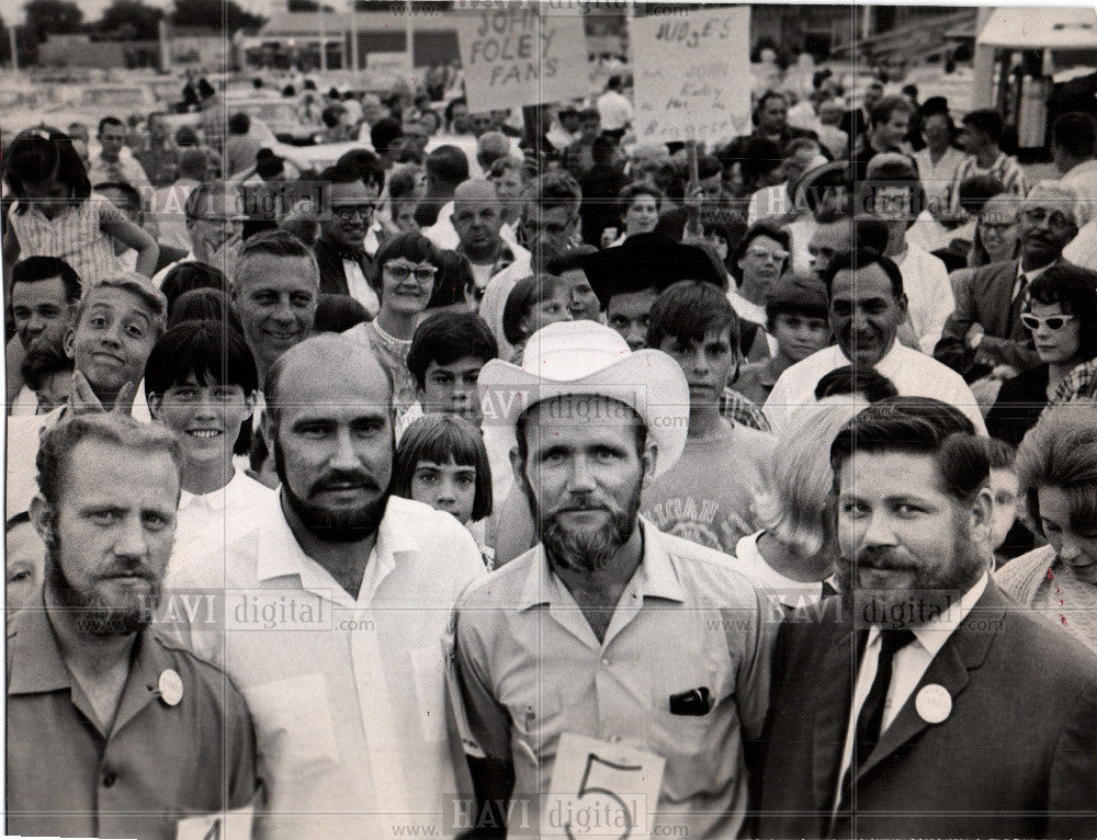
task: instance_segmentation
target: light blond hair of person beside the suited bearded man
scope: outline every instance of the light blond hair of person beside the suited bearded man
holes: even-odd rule
[[[830,444],[868,405],[849,397],[841,404],[805,406],[778,440],[769,487],[756,497],[755,512],[759,524],[804,557],[823,548],[826,522],[834,515]]]

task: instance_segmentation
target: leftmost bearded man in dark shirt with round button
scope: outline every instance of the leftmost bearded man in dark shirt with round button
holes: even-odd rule
[[[247,819],[244,697],[149,626],[176,529],[174,436],[78,417],[45,433],[37,468],[45,581],[8,633],[8,832],[167,840],[226,809]]]

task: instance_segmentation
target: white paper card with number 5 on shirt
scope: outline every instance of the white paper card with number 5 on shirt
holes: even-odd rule
[[[658,804],[663,767],[654,752],[564,733],[541,801],[541,837],[648,837],[648,809]]]

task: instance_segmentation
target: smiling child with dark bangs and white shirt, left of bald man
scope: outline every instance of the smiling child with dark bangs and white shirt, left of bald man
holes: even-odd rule
[[[223,563],[273,492],[236,469],[233,449],[256,408],[259,374],[244,337],[217,321],[169,329],[149,354],[145,394],[183,449],[182,493],[168,581],[195,563]],[[250,428],[250,427],[249,427]]]

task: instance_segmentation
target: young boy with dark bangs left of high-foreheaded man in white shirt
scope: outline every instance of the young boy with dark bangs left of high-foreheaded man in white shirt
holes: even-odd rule
[[[777,353],[743,367],[735,389],[762,405],[777,377],[830,341],[826,290],[808,279],[784,274],[766,293],[766,331],[777,340]]]

